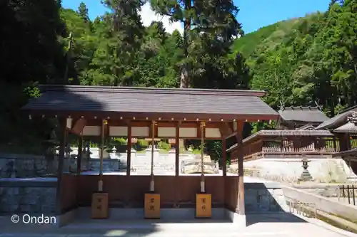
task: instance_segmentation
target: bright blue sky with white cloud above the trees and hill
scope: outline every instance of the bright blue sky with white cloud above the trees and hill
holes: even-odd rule
[[[100,16],[106,11],[100,0],[62,0],[62,6],[76,10],[81,1],[84,1],[88,7],[91,19],[95,19],[96,16]],[[326,11],[330,0],[234,0],[234,2],[240,9],[237,16],[238,21],[242,23],[243,30],[250,33],[277,21],[305,16],[316,11]],[[151,23],[151,20],[156,20],[150,12],[149,6],[143,10],[141,17],[143,21],[147,21],[144,22],[144,25]],[[162,20],[164,22],[167,19]],[[167,24],[169,24],[168,21]],[[166,26],[166,30],[169,27],[180,26],[177,24],[176,26]]]

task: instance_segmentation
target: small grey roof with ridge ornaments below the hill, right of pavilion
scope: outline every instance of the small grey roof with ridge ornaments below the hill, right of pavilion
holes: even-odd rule
[[[278,112],[286,121],[324,122],[329,119],[318,107],[281,107]]]

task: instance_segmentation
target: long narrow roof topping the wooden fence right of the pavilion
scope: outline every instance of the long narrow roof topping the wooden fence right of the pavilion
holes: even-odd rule
[[[332,137],[333,134],[327,130],[260,130],[253,135],[243,139],[244,143],[253,142],[260,137]],[[238,147],[238,144],[227,149],[227,152],[231,152]]]

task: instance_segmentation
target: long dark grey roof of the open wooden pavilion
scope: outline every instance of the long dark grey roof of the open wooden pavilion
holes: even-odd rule
[[[276,120],[278,113],[258,90],[132,88],[42,85],[41,95],[23,107],[30,114],[105,115],[196,120]]]

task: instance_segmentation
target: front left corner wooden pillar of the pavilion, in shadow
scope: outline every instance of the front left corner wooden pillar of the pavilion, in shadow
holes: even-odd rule
[[[62,174],[64,171],[64,155],[66,148],[67,130],[66,130],[66,118],[60,119],[61,141],[59,142],[59,160],[57,167],[57,185],[56,185],[56,214],[61,215],[61,189],[62,186]]]

